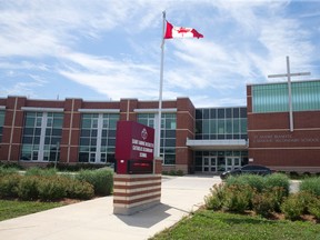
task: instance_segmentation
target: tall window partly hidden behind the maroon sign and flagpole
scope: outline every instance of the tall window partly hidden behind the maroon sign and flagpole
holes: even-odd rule
[[[154,128],[154,113],[138,114],[138,122]],[[163,164],[176,164],[176,113],[161,114],[161,139],[160,156],[163,158]]]

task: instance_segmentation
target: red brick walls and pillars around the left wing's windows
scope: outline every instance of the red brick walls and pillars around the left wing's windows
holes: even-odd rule
[[[0,106],[6,111],[0,142],[0,161],[19,162],[21,152],[22,131],[24,124],[23,108],[38,109],[62,109],[63,127],[60,142],[60,162],[74,164],[78,162],[79,137],[81,130],[81,110],[108,109],[117,110],[120,120],[137,121],[137,109],[158,109],[158,101],[139,101],[138,99],[121,99],[112,102],[83,101],[82,99],[66,100],[32,100],[26,97],[8,97],[0,99]],[[188,172],[192,162],[192,152],[186,147],[187,138],[193,138],[194,129],[194,107],[189,98],[178,98],[172,101],[163,101],[163,112],[166,109],[176,109],[177,112],[177,150],[176,168]],[[49,110],[48,110],[49,111]],[[29,164],[29,162],[23,162]],[[39,162],[41,163],[41,162]],[[46,163],[46,162],[44,162]],[[30,162],[30,164],[34,164]],[[172,168],[172,167],[170,167]],[[164,166],[166,169],[166,166]],[[168,168],[169,169],[169,168]]]

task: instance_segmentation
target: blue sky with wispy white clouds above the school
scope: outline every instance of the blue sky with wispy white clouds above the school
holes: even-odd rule
[[[0,0],[0,98],[159,99],[162,11],[203,39],[164,47],[163,100],[246,106],[246,86],[320,79],[320,2]]]

